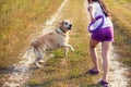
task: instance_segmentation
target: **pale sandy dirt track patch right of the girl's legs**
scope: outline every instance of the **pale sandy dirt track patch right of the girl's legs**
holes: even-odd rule
[[[128,67],[123,67],[118,61],[119,55],[115,53],[115,47],[111,47],[110,58],[110,87],[127,87],[129,78],[124,74]]]

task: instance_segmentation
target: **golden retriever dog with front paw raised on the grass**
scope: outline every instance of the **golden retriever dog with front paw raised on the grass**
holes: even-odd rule
[[[39,36],[31,42],[31,48],[34,49],[34,53],[36,57],[35,64],[37,67],[41,67],[39,62],[45,62],[43,59],[45,58],[47,51],[52,51],[58,48],[64,48],[64,55],[68,54],[69,48],[74,51],[73,47],[68,44],[69,32],[71,29],[71,21],[64,20],[60,23],[60,26],[57,29],[46,35]]]

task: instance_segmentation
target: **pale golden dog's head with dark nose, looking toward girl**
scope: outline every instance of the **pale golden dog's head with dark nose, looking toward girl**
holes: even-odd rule
[[[60,27],[64,30],[71,30],[72,28],[72,22],[70,20],[64,20],[60,23]]]

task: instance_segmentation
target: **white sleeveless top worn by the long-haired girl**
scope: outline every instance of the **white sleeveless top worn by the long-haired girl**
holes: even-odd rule
[[[103,25],[102,28],[112,27],[112,22],[110,21],[110,18],[108,16],[107,17],[105,16],[105,14],[103,12],[103,9],[100,8],[100,4],[98,2],[94,2],[94,3],[90,4],[90,5],[92,5],[95,9],[95,11],[94,11],[94,16],[95,17],[98,16],[98,15],[103,15],[104,16],[104,25]],[[98,22],[97,22],[97,24],[95,26],[97,26],[97,25],[99,25]]]

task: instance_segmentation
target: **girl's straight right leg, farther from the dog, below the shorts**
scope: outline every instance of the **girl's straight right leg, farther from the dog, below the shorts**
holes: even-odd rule
[[[110,46],[111,46],[111,41],[102,42],[102,57],[103,57],[103,71],[104,71],[103,80],[104,82],[108,82]]]

